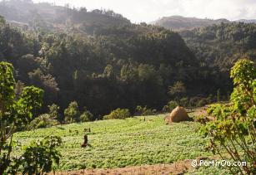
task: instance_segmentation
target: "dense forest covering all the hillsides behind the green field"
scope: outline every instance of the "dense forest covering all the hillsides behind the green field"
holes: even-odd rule
[[[24,15],[18,23],[18,16],[8,11],[15,3],[34,7],[38,16],[16,7]],[[147,105],[160,110],[169,100],[216,100],[219,92],[225,99],[232,88],[226,70],[243,54],[255,59],[253,24],[220,24],[179,34],[133,24],[113,11],[18,0],[1,2],[0,8],[8,19],[0,20],[0,61],[13,63],[17,94],[24,85],[44,90],[39,113],[57,104],[63,114],[77,101],[81,111],[88,109],[93,119],[101,119],[118,108],[133,113],[138,105]],[[54,20],[48,20],[50,15]]]

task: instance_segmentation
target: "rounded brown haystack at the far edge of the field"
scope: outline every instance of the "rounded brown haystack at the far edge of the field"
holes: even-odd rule
[[[165,117],[166,124],[178,123],[178,122],[189,121],[189,120],[190,120],[190,118],[188,117],[188,113],[186,112],[186,110],[183,107],[180,107],[180,106],[173,109],[171,114],[168,114]]]

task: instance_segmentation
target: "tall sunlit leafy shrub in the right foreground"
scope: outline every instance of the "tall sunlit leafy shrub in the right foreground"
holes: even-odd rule
[[[253,61],[239,60],[231,70],[231,78],[235,87],[230,102],[208,109],[215,120],[204,124],[201,132],[210,139],[208,148],[213,153],[221,158],[228,153],[233,161],[247,162],[244,167],[228,167],[231,173],[255,174],[256,68]]]

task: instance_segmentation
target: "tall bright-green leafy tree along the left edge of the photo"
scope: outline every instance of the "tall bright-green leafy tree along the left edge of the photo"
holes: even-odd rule
[[[33,114],[43,103],[43,90],[25,87],[20,97],[16,97],[15,84],[13,66],[0,62],[0,174],[7,173],[7,169],[15,162],[11,154],[13,134],[28,126]]]

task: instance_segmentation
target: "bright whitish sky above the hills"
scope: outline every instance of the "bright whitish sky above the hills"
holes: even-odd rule
[[[33,0],[33,2],[69,3],[71,7],[112,9],[132,22],[153,22],[160,17],[256,19],[256,0]]]

